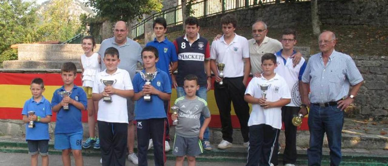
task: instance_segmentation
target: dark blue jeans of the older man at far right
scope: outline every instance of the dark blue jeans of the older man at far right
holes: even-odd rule
[[[341,163],[341,132],[344,117],[343,111],[338,109],[337,106],[320,107],[319,105],[310,105],[308,114],[310,147],[307,149],[309,166],[320,166],[325,132],[330,149],[330,165],[339,166]]]

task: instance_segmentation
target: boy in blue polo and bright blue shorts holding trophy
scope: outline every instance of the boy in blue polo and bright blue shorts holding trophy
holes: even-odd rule
[[[51,100],[52,111],[57,112],[55,124],[54,148],[62,150],[64,166],[70,166],[70,152],[73,153],[76,166],[83,165],[81,145],[83,128],[81,123],[81,110],[87,108],[87,97],[82,88],[74,85],[77,77],[77,68],[73,62],[66,62],[61,69],[64,85],[55,90]],[[71,92],[69,96],[62,97],[59,93]],[[68,109],[64,109],[68,106]]]

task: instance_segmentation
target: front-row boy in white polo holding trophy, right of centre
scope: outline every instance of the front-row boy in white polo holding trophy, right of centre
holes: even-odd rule
[[[271,53],[262,56],[262,77],[254,77],[249,82],[244,100],[252,104],[248,121],[249,148],[246,166],[272,166],[278,131],[282,127],[281,107],[291,102],[286,80],[274,73],[276,56]],[[260,86],[267,85],[265,99]]]

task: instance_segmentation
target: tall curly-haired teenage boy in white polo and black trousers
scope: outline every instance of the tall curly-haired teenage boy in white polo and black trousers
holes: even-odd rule
[[[214,96],[222,124],[222,141],[219,149],[232,147],[232,120],[230,118],[230,102],[239,118],[244,145],[248,147],[249,106],[244,101],[245,86],[251,70],[249,61],[248,40],[234,33],[237,26],[236,16],[227,14],[221,18],[223,35],[220,40],[213,41],[210,49],[210,66],[215,75]],[[216,63],[225,64],[223,80],[218,76]],[[223,81],[223,85],[219,82]]]

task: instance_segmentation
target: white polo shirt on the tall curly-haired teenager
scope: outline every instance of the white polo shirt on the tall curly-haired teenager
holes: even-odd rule
[[[234,34],[234,39],[228,45],[223,35],[220,40],[211,43],[210,59],[217,59],[218,63],[225,64],[224,77],[234,78],[244,76],[244,60],[249,58],[248,40]]]

